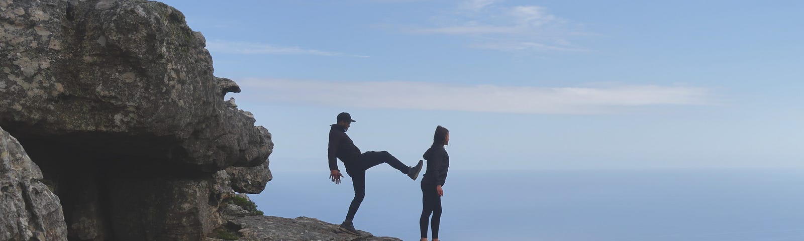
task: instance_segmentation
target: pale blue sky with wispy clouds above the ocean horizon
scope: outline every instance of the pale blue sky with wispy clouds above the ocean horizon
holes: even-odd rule
[[[342,111],[408,164],[445,126],[453,170],[804,167],[804,2],[163,2],[274,172],[326,172]]]

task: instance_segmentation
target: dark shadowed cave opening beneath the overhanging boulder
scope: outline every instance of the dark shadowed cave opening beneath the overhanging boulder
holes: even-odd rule
[[[187,153],[168,137],[8,129],[59,197],[70,241],[163,237],[153,231],[163,229],[158,226],[169,214],[148,206],[166,206],[161,195],[182,195],[170,186],[176,178],[211,178],[198,166],[172,161]],[[220,195],[209,194],[209,204],[216,206]]]

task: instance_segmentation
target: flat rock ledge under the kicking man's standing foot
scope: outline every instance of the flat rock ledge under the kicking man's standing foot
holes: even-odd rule
[[[298,217],[287,219],[275,216],[249,216],[234,219],[230,227],[237,231],[240,240],[260,241],[402,241],[392,237],[375,237],[369,232],[358,231],[360,235],[350,235],[338,231],[338,225],[318,219]]]

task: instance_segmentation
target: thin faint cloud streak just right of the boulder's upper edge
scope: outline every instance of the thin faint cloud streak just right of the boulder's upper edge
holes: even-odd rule
[[[207,49],[212,52],[240,55],[322,55],[367,58],[333,51],[319,51],[302,47],[282,47],[265,43],[246,43],[222,40],[207,41]]]

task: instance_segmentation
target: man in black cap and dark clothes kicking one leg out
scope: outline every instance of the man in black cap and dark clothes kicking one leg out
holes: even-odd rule
[[[341,223],[340,230],[352,235],[359,235],[352,224],[352,219],[355,219],[355,213],[360,207],[360,202],[363,202],[363,197],[366,196],[366,170],[380,163],[388,163],[388,165],[393,166],[396,170],[400,170],[400,172],[407,174],[409,178],[416,181],[423,161],[419,160],[419,164],[416,166],[407,166],[387,151],[360,153],[360,149],[355,146],[355,143],[351,141],[351,138],[346,133],[349,125],[355,120],[352,120],[351,115],[347,112],[338,114],[337,120],[337,124],[331,125],[330,145],[329,149],[327,149],[327,157],[329,157],[330,162],[330,180],[335,184],[341,183],[343,174],[338,170],[338,162],[335,161],[335,157],[338,157],[343,161],[343,165],[346,166],[347,174],[352,178],[352,185],[355,187],[355,198],[352,199],[351,205],[349,205],[347,219]]]

